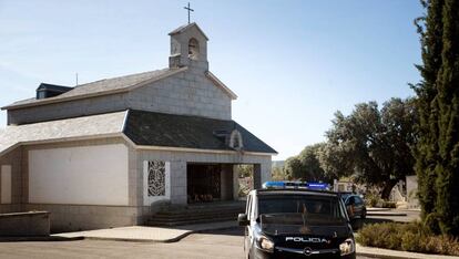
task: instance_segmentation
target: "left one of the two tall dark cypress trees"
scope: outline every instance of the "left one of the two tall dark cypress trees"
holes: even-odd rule
[[[422,219],[438,231],[435,206],[437,193],[436,163],[438,160],[438,103],[437,74],[441,65],[442,6],[443,0],[421,1],[427,9],[425,17],[416,20],[420,33],[422,65],[417,65],[422,80],[411,85],[417,94],[416,106],[419,114],[418,144],[415,152],[415,170],[418,176],[418,197],[422,208]]]

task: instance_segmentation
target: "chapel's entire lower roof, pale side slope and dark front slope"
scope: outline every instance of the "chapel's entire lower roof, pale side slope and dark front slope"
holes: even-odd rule
[[[223,136],[237,130],[243,151],[276,151],[234,121],[143,111],[122,111],[51,122],[7,126],[0,130],[0,155],[21,144],[122,136],[135,145],[211,151],[234,151]]]

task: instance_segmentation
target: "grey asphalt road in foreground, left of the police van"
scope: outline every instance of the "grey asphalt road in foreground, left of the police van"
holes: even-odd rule
[[[243,230],[191,235],[178,242],[102,240],[0,242],[0,258],[244,258]],[[366,259],[366,257],[358,257]]]

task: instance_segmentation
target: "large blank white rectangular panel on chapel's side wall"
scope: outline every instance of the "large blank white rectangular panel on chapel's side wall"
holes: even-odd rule
[[[29,203],[129,205],[123,144],[29,152]]]

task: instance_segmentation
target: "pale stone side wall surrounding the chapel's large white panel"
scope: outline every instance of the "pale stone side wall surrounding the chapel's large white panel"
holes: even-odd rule
[[[59,149],[71,147],[98,147],[106,145],[126,145],[128,148],[128,201],[126,206],[103,205],[68,205],[68,204],[32,204],[29,201],[29,153],[33,151]],[[94,156],[95,157],[95,156]],[[137,221],[139,214],[149,213],[150,208],[137,207],[137,172],[136,152],[122,138],[101,138],[84,142],[67,142],[41,144],[16,148],[0,157],[0,164],[12,164],[12,201],[11,205],[0,205],[0,213],[44,210],[51,213],[51,230],[53,232],[132,226]],[[142,189],[142,188],[141,188]],[[141,211],[141,213],[139,213]]]

